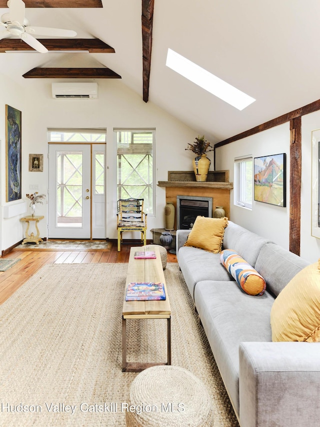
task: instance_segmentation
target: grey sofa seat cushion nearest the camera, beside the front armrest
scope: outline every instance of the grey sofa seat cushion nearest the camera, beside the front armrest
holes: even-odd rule
[[[194,302],[232,405],[239,413],[239,344],[271,341],[270,311],[274,298],[242,292],[236,282],[196,284]]]

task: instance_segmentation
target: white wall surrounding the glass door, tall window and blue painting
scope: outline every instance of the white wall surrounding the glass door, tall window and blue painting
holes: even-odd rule
[[[4,104],[22,111],[22,199],[26,193],[34,192],[33,185],[39,185],[39,193],[47,194],[48,187],[48,127],[90,128],[105,127],[107,130],[107,237],[116,238],[116,144],[113,128],[155,128],[155,182],[167,180],[168,170],[192,170],[192,156],[184,151],[197,133],[157,108],[150,101],[128,89],[120,80],[98,80],[97,100],[55,100],[51,96],[51,81],[47,79],[28,81],[25,88],[12,87],[3,82],[3,123]],[[142,87],[141,87],[142,91]],[[12,94],[15,94],[14,96]],[[24,102],[25,101],[25,102]],[[4,142],[5,135],[0,139]],[[2,144],[3,145],[3,144]],[[3,147],[1,153],[3,154]],[[43,172],[28,172],[29,154],[43,154]],[[3,158],[4,156],[2,156]],[[1,178],[4,178],[2,167]],[[1,186],[3,201],[3,185]],[[155,216],[148,215],[148,230],[164,226],[165,190],[155,186]],[[12,203],[12,202],[11,202]],[[29,207],[28,207],[29,209]],[[30,214],[29,210],[27,212]],[[47,237],[47,198],[42,205],[36,205],[36,213],[44,215],[39,223],[41,237]],[[23,238],[20,216],[9,221],[3,220],[1,249],[6,249]],[[151,238],[149,232],[147,238]]]

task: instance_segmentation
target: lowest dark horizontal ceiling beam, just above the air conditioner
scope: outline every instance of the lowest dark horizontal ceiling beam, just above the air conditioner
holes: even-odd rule
[[[33,68],[25,79],[121,79],[109,68]]]

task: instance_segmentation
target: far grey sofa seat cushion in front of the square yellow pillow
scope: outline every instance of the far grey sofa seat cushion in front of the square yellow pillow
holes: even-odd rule
[[[194,286],[201,280],[234,281],[220,263],[220,254],[182,246],[178,252],[179,267],[194,300]]]

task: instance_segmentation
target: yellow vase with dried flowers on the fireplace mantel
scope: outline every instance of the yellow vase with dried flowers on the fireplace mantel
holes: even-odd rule
[[[192,161],[195,181],[206,181],[211,164],[211,160],[206,157],[206,153],[213,151],[210,143],[204,139],[204,135],[198,136],[192,144],[188,143],[188,147],[185,150],[196,154]]]

